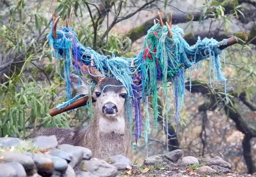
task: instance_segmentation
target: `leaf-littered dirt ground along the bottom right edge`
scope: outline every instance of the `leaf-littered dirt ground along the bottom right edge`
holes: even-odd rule
[[[178,168],[165,169],[154,168],[151,166],[133,166],[130,170],[119,171],[118,177],[256,177],[256,172],[253,174],[239,174],[236,171],[231,173],[212,173],[203,174],[197,169]]]

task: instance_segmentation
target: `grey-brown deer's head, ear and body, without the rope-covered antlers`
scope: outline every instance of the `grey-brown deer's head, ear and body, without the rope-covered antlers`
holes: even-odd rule
[[[88,94],[88,85],[79,76],[71,75],[71,86],[80,94]],[[114,85],[114,86],[113,86]],[[128,157],[130,152],[129,124],[126,120],[126,89],[116,78],[105,77],[92,93],[94,117],[91,126],[78,130],[66,128],[39,129],[31,134],[36,136],[55,135],[59,144],[86,147],[92,156],[105,159],[114,155]]]

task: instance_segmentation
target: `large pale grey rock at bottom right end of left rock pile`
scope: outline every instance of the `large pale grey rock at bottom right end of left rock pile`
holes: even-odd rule
[[[82,161],[81,170],[89,171],[93,175],[99,177],[116,177],[117,169],[104,160],[91,159],[90,161]]]

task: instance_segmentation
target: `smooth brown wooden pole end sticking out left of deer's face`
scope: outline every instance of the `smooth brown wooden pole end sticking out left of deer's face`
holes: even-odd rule
[[[51,116],[55,116],[55,115],[58,115],[60,113],[64,113],[68,110],[73,110],[73,109],[79,108],[81,106],[85,106],[88,99],[89,99],[88,95],[83,96],[83,97],[77,99],[76,101],[74,101],[73,103],[71,103],[70,105],[68,105],[65,108],[62,108],[60,110],[58,110],[57,108],[52,108],[52,109],[49,110],[49,113],[50,113]]]

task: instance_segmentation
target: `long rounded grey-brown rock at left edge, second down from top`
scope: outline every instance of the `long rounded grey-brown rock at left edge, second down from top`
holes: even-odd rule
[[[4,156],[4,158],[2,159],[3,162],[18,162],[24,167],[26,171],[34,169],[35,164],[33,159],[24,154],[16,152],[7,152],[2,154],[1,156]]]

